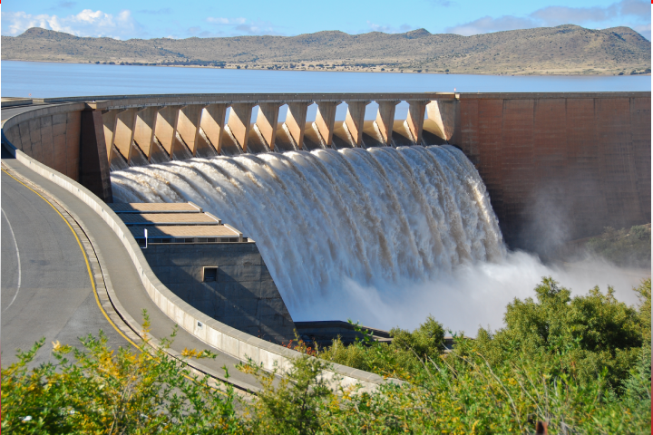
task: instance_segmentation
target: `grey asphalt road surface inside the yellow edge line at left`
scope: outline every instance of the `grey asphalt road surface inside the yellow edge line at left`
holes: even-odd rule
[[[100,330],[112,347],[129,346],[101,314],[82,250],[54,208],[3,171],[0,210],[2,364],[42,337],[36,363],[48,360],[51,342],[74,345]]]

